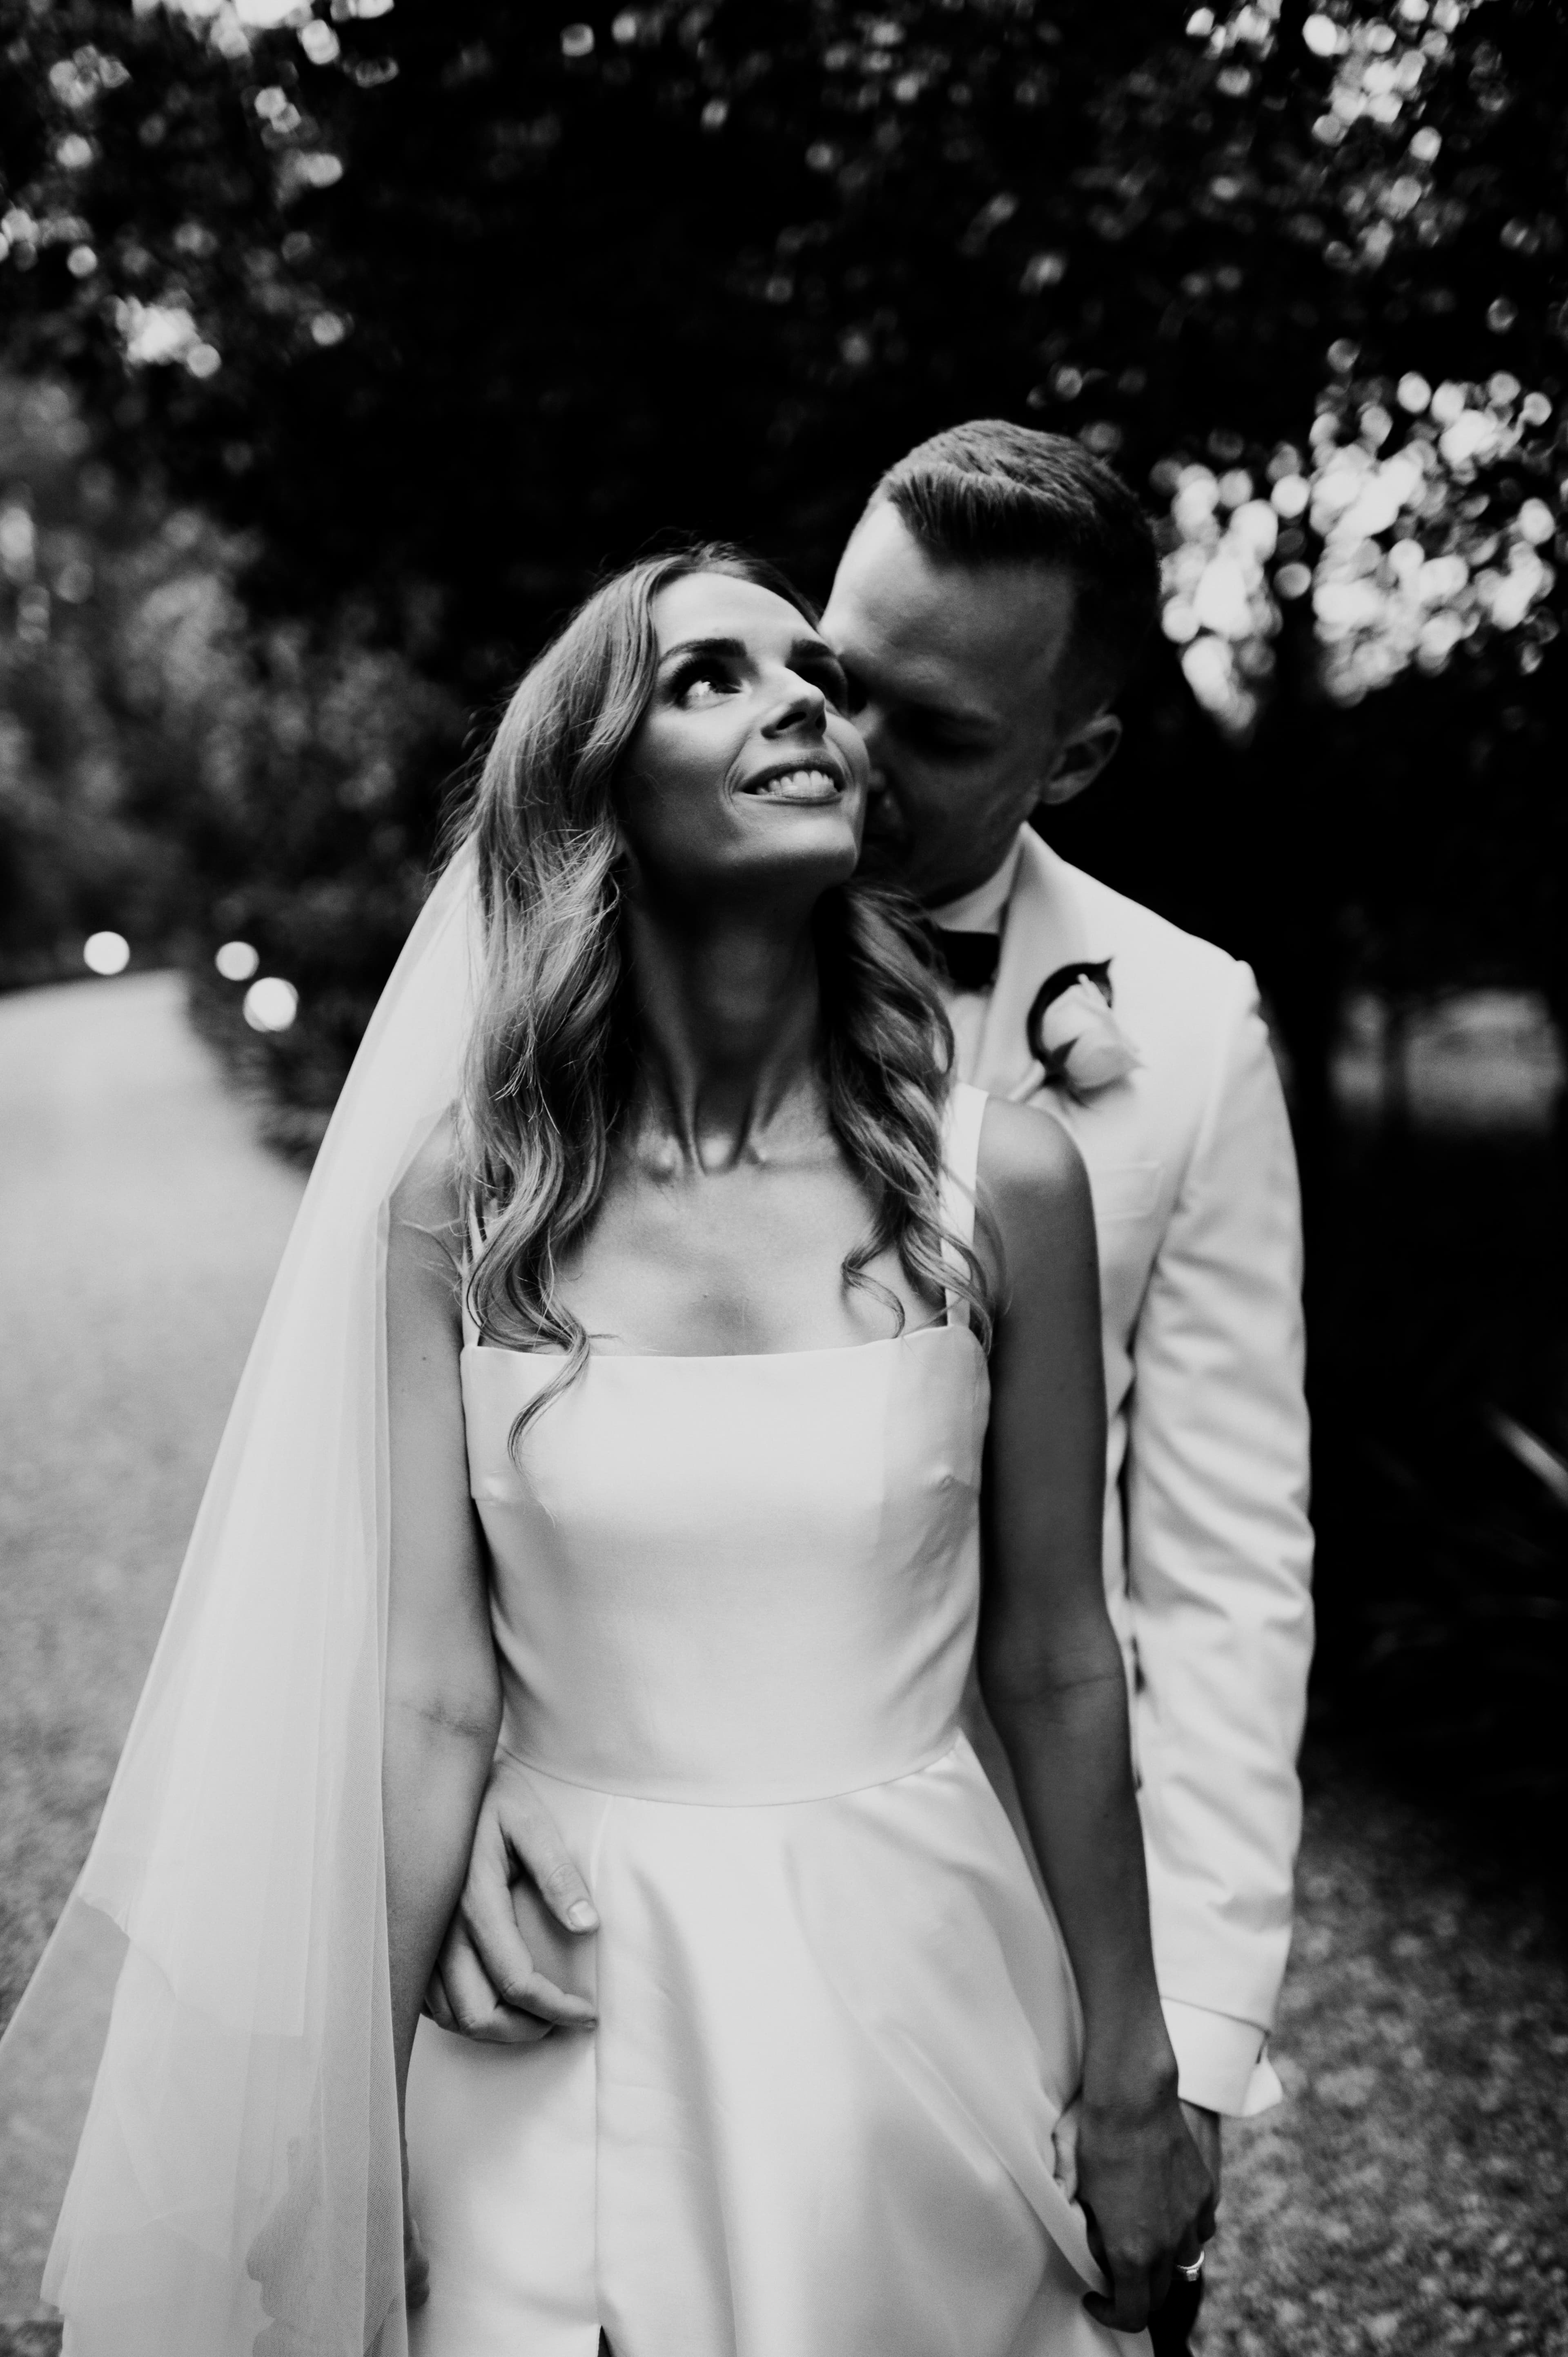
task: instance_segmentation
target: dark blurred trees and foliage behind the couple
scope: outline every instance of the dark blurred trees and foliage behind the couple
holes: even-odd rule
[[[443,794],[601,566],[722,533],[821,594],[922,434],[1082,434],[1167,636],[1049,832],[1276,1021],[1316,1742],[1554,1850],[1561,1091],[1434,1122],[1405,1042],[1483,988],[1568,1028],[1566,165],[1561,0],[0,0],[0,981],[97,926],[186,964],[309,1153]]]

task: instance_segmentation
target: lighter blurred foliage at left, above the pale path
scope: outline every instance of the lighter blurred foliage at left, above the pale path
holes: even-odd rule
[[[186,955],[311,1148],[420,903],[462,709],[354,606],[257,627],[245,544],[87,445],[64,387],[0,379],[0,985],[80,973],[99,926]],[[266,1044],[207,955],[252,936],[309,1009]]]

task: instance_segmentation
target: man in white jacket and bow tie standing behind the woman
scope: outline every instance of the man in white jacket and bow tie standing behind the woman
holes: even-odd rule
[[[1299,1834],[1311,1534],[1297,1176],[1250,971],[1068,867],[1028,825],[1115,752],[1111,705],[1155,601],[1153,537],[1120,478],[1059,434],[981,420],[877,483],[823,634],[863,698],[865,856],[931,915],[960,1072],[1056,1115],[1089,1171],[1106,1589],[1160,1994],[1219,2185],[1221,2119],[1278,2100],[1264,2041]],[[1007,1796],[979,1709],[971,1735]],[[509,1853],[561,1921],[592,1928],[554,1827],[502,1761],[431,1994],[448,2027],[516,2041],[587,2008],[556,2006],[533,1970]],[[561,1949],[556,1935],[540,1963],[566,1980]],[[1191,2293],[1186,2319],[1181,2291],[1167,2305],[1155,2348],[1179,2350]]]

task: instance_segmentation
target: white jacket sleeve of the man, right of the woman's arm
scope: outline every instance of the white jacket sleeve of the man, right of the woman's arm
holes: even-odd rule
[[[1207,1103],[1134,1334],[1127,1596],[1155,1968],[1181,2093],[1278,2095],[1311,1662],[1302,1214],[1257,988],[1233,969]]]

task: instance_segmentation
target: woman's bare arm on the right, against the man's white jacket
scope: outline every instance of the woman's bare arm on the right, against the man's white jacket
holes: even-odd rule
[[[990,1103],[981,1202],[1002,1310],[990,1358],[979,1678],[1085,2013],[1078,2176],[1137,2331],[1205,2225],[1148,1937],[1127,1688],[1101,1574],[1106,1400],[1089,1183],[1047,1115]]]

